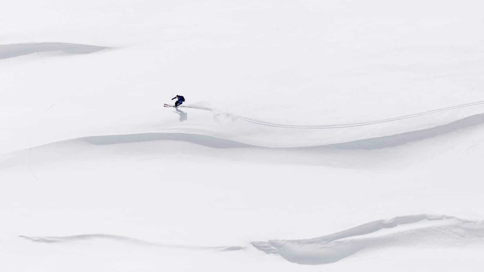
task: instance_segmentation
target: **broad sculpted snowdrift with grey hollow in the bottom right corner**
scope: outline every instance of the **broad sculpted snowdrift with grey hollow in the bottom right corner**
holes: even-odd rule
[[[267,254],[299,264],[327,264],[360,251],[392,247],[484,246],[484,222],[447,215],[407,215],[377,220],[333,234],[303,240],[252,242]]]

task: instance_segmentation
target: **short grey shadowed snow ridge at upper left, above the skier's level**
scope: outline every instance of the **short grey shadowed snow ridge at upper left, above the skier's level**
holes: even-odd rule
[[[105,46],[70,43],[25,43],[0,45],[0,60],[37,52],[62,51],[66,54],[88,54],[106,49]]]

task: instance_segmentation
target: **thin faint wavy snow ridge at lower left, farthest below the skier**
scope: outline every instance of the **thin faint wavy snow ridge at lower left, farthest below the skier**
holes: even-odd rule
[[[181,249],[193,249],[193,250],[218,250],[218,251],[235,251],[244,249],[242,246],[188,246],[188,245],[170,245],[162,244],[158,242],[148,242],[139,240],[136,238],[112,235],[112,234],[80,234],[72,236],[45,236],[45,237],[29,237],[25,235],[20,235],[19,237],[27,239],[31,242],[39,243],[76,243],[76,242],[118,242],[123,245],[142,245],[142,246],[160,246],[160,247],[170,247],[170,248],[181,248]]]

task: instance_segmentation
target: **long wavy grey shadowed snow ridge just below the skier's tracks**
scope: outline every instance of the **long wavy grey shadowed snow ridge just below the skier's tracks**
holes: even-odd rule
[[[163,132],[147,132],[147,133],[127,133],[127,134],[113,134],[113,135],[98,135],[98,136],[84,136],[72,139],[65,139],[61,141],[46,143],[43,145],[31,147],[32,148],[48,147],[60,143],[69,144],[71,142],[82,141],[92,145],[114,145],[126,143],[139,143],[149,141],[180,141],[192,143],[200,146],[216,148],[216,149],[231,149],[231,148],[268,148],[268,149],[284,149],[284,150],[378,150],[389,147],[397,147],[411,142],[417,142],[429,139],[436,136],[442,136],[457,131],[462,131],[471,127],[484,124],[484,114],[476,114],[458,121],[435,126],[428,129],[408,131],[404,133],[393,134],[389,136],[369,137],[364,139],[357,139],[351,141],[336,141],[331,144],[319,144],[317,140],[308,142],[306,145],[298,145],[294,142],[292,145],[280,146],[277,138],[273,138],[272,142],[259,143],[257,139],[244,140],[237,136],[219,136],[217,133],[210,131],[187,130],[188,132],[176,132],[169,129]],[[255,124],[257,125],[257,124]],[[343,130],[343,128],[340,128]],[[297,130],[300,131],[300,130]],[[276,133],[274,131],[273,133]],[[25,151],[25,150],[24,150]],[[15,153],[14,151],[11,153]]]

